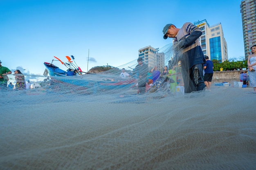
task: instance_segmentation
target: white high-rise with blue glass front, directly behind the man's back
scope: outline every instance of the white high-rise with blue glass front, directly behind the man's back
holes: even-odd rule
[[[227,42],[224,38],[221,23],[210,26],[207,20],[194,22],[202,30],[200,36],[201,48],[204,56],[210,60],[219,60],[224,62],[228,60]]]

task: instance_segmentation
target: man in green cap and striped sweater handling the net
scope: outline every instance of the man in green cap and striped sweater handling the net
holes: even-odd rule
[[[173,40],[173,60],[171,65],[181,62],[184,92],[202,91],[205,88],[203,64],[205,63],[198,38],[202,31],[190,22],[183,24],[181,29],[173,24],[166,24],[163,29],[164,39]]]

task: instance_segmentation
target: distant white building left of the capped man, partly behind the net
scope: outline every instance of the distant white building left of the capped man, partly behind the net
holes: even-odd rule
[[[153,68],[157,66],[159,71],[162,71],[164,68],[164,53],[159,53],[158,49],[153,48],[152,46],[145,46],[144,48],[139,49],[139,57],[143,59],[145,64],[148,64],[148,68]]]

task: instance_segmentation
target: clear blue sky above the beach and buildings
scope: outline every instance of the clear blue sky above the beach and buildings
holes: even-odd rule
[[[137,59],[140,48],[171,43],[163,39],[165,24],[180,28],[204,19],[210,26],[221,22],[229,59],[239,60],[245,55],[240,2],[0,0],[0,60],[9,69],[37,75],[53,56],[67,62],[65,56],[73,55],[83,71],[107,63],[121,66]]]

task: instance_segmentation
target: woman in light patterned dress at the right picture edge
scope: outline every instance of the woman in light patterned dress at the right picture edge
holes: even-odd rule
[[[250,86],[254,88],[254,93],[256,93],[256,45],[251,47],[252,54],[248,56],[248,73]]]

